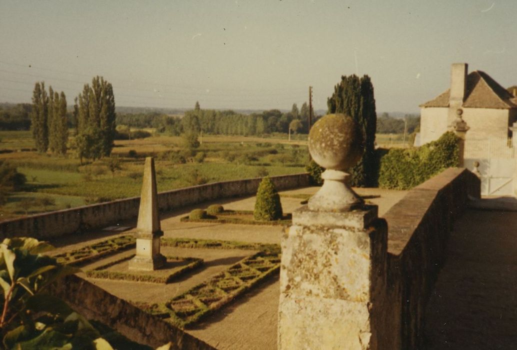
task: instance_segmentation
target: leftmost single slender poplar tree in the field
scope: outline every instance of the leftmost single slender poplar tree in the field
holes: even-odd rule
[[[33,108],[31,113],[31,128],[38,152],[46,152],[49,148],[48,130],[48,96],[45,83],[37,82],[33,91]]]

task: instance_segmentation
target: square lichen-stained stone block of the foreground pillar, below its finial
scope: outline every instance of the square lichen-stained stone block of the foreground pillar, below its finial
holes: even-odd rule
[[[282,237],[279,349],[375,348],[387,239],[376,213],[295,211]]]

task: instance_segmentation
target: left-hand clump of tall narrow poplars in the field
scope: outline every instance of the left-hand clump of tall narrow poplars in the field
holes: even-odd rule
[[[68,119],[66,113],[66,96],[49,87],[45,90],[44,82],[37,82],[33,92],[32,129],[36,148],[40,152],[50,151],[64,155],[68,140]]]

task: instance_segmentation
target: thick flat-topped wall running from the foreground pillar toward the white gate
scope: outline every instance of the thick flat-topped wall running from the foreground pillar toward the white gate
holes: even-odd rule
[[[379,348],[421,347],[425,305],[453,223],[469,197],[480,196],[480,180],[450,168],[409,191],[386,213],[388,255],[382,319],[389,326]]]

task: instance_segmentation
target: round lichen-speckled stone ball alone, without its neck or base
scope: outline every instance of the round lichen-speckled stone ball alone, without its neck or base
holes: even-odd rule
[[[361,159],[363,151],[362,132],[351,116],[328,114],[309,132],[309,153],[325,169],[345,171]]]

